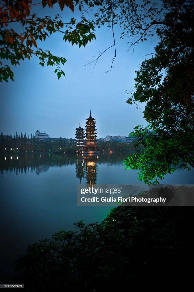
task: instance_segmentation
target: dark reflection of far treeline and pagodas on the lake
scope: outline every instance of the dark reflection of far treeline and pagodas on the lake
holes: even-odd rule
[[[76,177],[80,183],[86,178],[88,184],[95,184],[97,179],[97,163],[108,165],[122,164],[123,159],[128,155],[123,153],[105,155],[88,155],[83,156],[66,154],[12,154],[0,155],[0,172],[4,171],[18,173],[35,172],[40,175],[49,170],[50,167],[76,166]]]

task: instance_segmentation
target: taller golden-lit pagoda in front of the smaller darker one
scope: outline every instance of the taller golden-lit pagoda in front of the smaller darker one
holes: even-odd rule
[[[86,119],[86,130],[85,130],[85,145],[83,148],[83,154],[98,154],[100,153],[99,148],[96,145],[96,122],[95,119],[90,117]]]

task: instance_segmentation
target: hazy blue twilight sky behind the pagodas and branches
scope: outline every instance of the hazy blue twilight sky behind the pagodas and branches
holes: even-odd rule
[[[67,7],[61,12],[57,4],[53,9],[40,6],[36,13],[41,17],[58,13],[66,22],[72,17],[78,20],[77,13]],[[36,57],[12,67],[14,82],[0,84],[0,133],[14,135],[18,131],[18,134],[26,132],[30,136],[40,129],[51,138],[74,138],[79,122],[85,127],[90,108],[96,119],[98,138],[128,135],[137,124],[146,126],[143,105],[136,109],[135,105],[127,104],[126,91],[134,86],[135,70],[144,55],[154,52],[158,39],[148,39],[135,46],[134,51],[132,48],[127,51],[127,39],[120,40],[120,32],[115,26],[117,55],[108,73],[103,72],[111,66],[114,48],[102,55],[93,72],[93,65],[85,65],[98,55],[98,50],[103,52],[113,45],[111,29],[97,29],[97,40],[92,40],[85,48],[65,43],[60,33],[51,35],[45,42],[37,41],[38,48],[49,49],[54,55],[67,59],[63,66],[66,77],[58,80],[55,67],[41,67]]]

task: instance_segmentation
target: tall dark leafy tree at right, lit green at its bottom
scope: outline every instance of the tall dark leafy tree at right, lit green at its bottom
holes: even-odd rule
[[[165,27],[156,30],[160,42],[136,72],[135,92],[127,100],[146,102],[149,124],[133,132],[143,149],[125,159],[126,168],[139,169],[145,183],[158,183],[177,167],[194,167],[194,4],[164,3]]]

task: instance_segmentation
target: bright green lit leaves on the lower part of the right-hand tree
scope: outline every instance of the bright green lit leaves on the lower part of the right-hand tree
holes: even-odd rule
[[[193,163],[194,143],[193,130],[177,131],[169,134],[165,128],[157,124],[149,124],[146,128],[136,126],[132,135],[137,137],[137,153],[124,160],[125,169],[139,170],[138,179],[146,184],[157,184],[167,173],[177,168],[190,170]],[[186,143],[185,141],[189,141]]]

